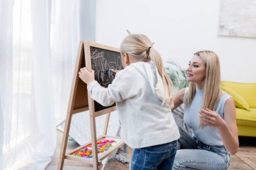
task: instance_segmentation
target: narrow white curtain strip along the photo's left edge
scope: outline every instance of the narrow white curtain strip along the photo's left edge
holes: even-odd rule
[[[0,1],[0,169],[10,146],[12,106],[12,1]]]

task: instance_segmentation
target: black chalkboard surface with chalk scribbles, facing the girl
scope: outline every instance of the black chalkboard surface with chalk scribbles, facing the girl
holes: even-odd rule
[[[122,69],[121,54],[117,48],[111,48],[96,43],[90,43],[89,46],[90,67],[94,70],[95,80],[98,81],[102,87],[108,87],[115,78],[115,75],[111,73],[109,69]],[[115,103],[108,107],[104,107],[103,105],[100,105],[100,103],[94,101],[94,112],[113,107],[115,107]]]

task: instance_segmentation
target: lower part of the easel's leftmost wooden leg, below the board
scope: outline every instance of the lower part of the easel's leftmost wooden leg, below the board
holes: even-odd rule
[[[60,156],[59,156],[58,170],[63,169],[65,154],[66,154],[66,149],[67,149],[67,140],[68,140],[68,137],[69,137],[69,128],[70,128],[70,124],[71,124],[71,118],[72,118],[72,114],[70,112],[67,112],[67,118],[66,118],[66,122],[65,122],[65,129],[64,129],[64,134],[63,134],[63,137],[62,137],[62,142],[61,142],[61,153],[60,153]]]

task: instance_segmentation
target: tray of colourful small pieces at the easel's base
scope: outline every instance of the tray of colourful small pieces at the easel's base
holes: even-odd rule
[[[117,136],[100,136],[97,139],[97,153],[98,160],[102,161],[105,157],[108,157],[110,153],[116,151],[119,147],[123,146],[125,142],[121,140],[120,137]],[[66,155],[67,159],[83,159],[87,161],[92,161],[93,153],[92,153],[92,142],[84,144],[83,146],[79,146],[75,148],[73,151],[69,152]]]

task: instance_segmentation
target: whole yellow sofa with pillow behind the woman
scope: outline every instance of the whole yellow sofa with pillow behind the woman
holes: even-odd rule
[[[238,135],[256,137],[256,83],[222,81],[221,85],[236,103]]]

